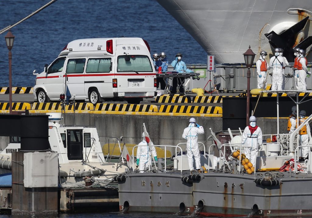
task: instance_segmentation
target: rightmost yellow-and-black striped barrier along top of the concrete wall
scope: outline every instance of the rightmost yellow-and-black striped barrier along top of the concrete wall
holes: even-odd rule
[[[216,106],[161,105],[160,113],[222,114],[222,108]]]

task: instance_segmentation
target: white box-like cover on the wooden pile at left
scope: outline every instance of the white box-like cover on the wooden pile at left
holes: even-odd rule
[[[57,187],[58,153],[24,154],[24,186],[26,188]]]

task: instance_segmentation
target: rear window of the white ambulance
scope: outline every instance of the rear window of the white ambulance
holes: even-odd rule
[[[149,57],[146,55],[128,55],[129,61],[126,61],[126,55],[120,55],[117,59],[117,72],[153,72]]]

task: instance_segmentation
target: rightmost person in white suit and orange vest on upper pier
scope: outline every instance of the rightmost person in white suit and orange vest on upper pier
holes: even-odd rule
[[[305,54],[305,51],[303,49],[299,50],[299,58],[298,58],[298,74],[297,74],[297,84],[298,84],[298,90],[307,90],[307,73],[308,73],[308,61],[307,58],[303,57]],[[310,77],[310,75],[309,75]]]

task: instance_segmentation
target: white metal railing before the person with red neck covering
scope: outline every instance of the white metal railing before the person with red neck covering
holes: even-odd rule
[[[211,150],[211,147],[212,146],[215,146],[215,144],[212,144],[212,145],[210,145],[209,146],[209,150],[208,150],[208,155],[209,155],[209,157],[210,157],[210,150]],[[254,148],[254,147],[251,147],[251,146],[244,146],[244,145],[242,145],[241,143],[227,143],[227,144],[221,144],[220,146],[223,146],[223,152],[222,152],[222,148],[220,147],[220,149],[219,149],[219,157],[220,157],[220,164],[219,164],[219,167],[220,167],[220,169],[221,169],[221,166],[223,166],[223,169],[224,169],[224,167],[225,167],[225,165],[223,165],[223,161],[224,161],[224,164],[227,164],[228,166],[229,166],[229,164],[228,164],[228,161],[226,160],[226,157],[225,157],[225,148],[226,147],[234,147],[235,149],[237,149],[237,148],[239,148],[239,150],[240,150],[240,155],[242,154],[242,148],[251,148],[251,150],[255,150],[256,151],[256,149]],[[232,150],[232,149],[231,149]],[[233,149],[234,150],[234,149]],[[246,155],[246,154],[245,154]],[[257,156],[255,156],[255,165],[254,165],[254,171],[253,171],[253,173],[255,173],[256,172],[256,161],[257,161]],[[238,161],[239,162],[239,173],[241,173],[241,161]],[[208,167],[208,173],[209,173],[209,167]]]

